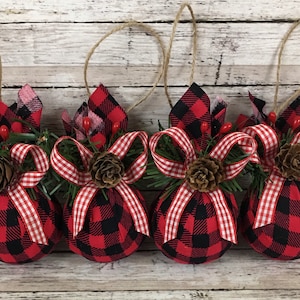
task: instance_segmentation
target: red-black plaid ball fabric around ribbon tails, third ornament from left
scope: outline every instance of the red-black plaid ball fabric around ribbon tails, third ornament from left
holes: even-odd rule
[[[195,192],[182,214],[177,238],[164,243],[166,215],[176,191],[160,198],[154,207],[151,234],[164,255],[184,264],[207,263],[221,257],[232,245],[221,238],[215,208],[205,193]],[[238,208],[233,195],[225,194],[228,208],[237,220]]]

